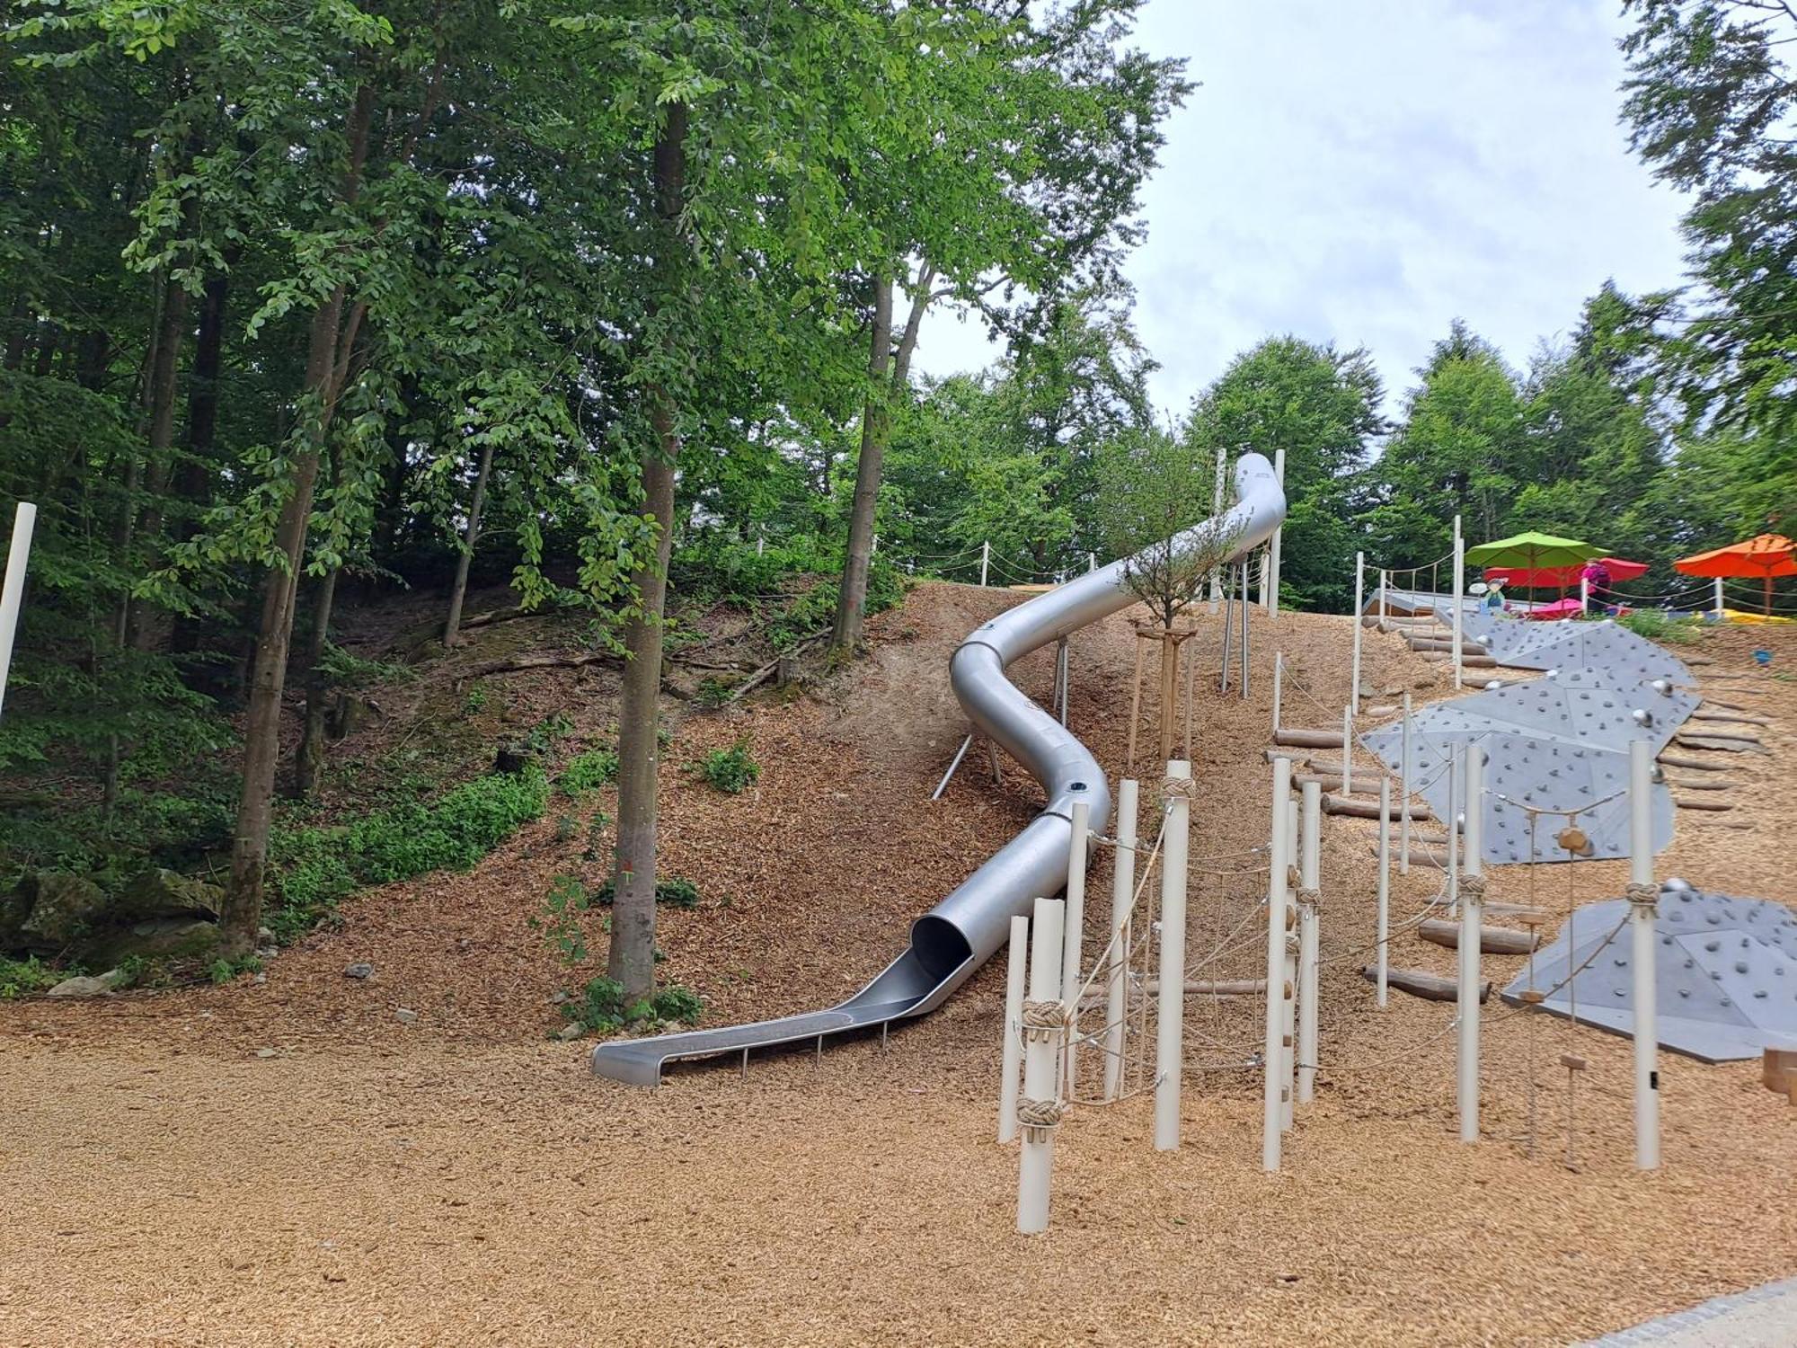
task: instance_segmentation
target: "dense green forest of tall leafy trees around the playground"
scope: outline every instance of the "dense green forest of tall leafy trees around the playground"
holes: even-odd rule
[[[322,818],[336,728],[395,676],[332,633],[429,595],[442,651],[509,584],[624,670],[597,865],[607,972],[645,994],[686,604],[782,593],[776,647],[841,667],[909,579],[1116,555],[1102,467],[1148,442],[1285,451],[1285,600],[1315,611],[1357,550],[1427,564],[1456,514],[1653,561],[1642,593],[1788,532],[1783,5],[1626,4],[1621,115],[1693,203],[1687,277],[1605,286],[1526,368],[1456,320],[1403,390],[1269,333],[1184,408],[1150,399],[1123,275],[1193,97],[1139,7],[9,5],[0,494],[41,514],[0,879],[212,874],[228,976],[358,884],[471,865],[543,812],[541,767]],[[943,311],[1005,356],[922,376]]]

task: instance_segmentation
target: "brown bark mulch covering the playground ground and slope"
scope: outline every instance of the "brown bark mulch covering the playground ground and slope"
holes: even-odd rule
[[[852,676],[683,717],[665,854],[701,906],[663,913],[663,971],[706,998],[708,1023],[855,990],[1030,818],[1033,784],[1008,762],[994,784],[981,753],[929,802],[965,733],[947,656],[1014,599],[920,588],[873,622]],[[1272,652],[1292,661],[1287,724],[1333,726],[1351,627],[1256,615],[1244,703],[1202,678],[1220,663],[1220,624],[1204,625],[1188,972],[1256,978]],[[1680,811],[1660,874],[1792,902],[1797,685],[1779,674],[1797,642],[1718,633],[1693,652],[1716,661],[1705,692],[1774,723],[1772,753],[1714,755],[1734,809]],[[1073,728],[1112,778],[1132,658],[1125,618],[1073,640]],[[532,715],[561,687],[571,741],[602,739],[615,676],[553,678],[496,683]],[[1049,652],[1017,679],[1046,701]],[[1373,703],[1450,692],[1394,636],[1369,636],[1364,679]],[[681,769],[739,737],[764,766],[749,793]],[[1326,827],[1323,1064],[1283,1172],[1260,1170],[1258,999],[1195,998],[1182,1150],[1150,1152],[1146,1095],[1071,1111],[1051,1231],[1022,1238],[1017,1159],[992,1140],[1001,962],[886,1050],[758,1057],[746,1078],[724,1064],[633,1091],[588,1077],[589,1044],[548,1041],[550,998],[579,976],[530,918],[557,874],[598,879],[580,809],[573,836],[557,805],[469,875],[358,897],[266,985],[0,1007],[0,1341],[1549,1344],[1797,1271],[1797,1109],[1757,1064],[1662,1055],[1664,1168],[1641,1175],[1628,1041],[1493,1001],[1483,1143],[1456,1140],[1452,1007],[1393,994],[1380,1012],[1359,976],[1369,821]],[[1623,879],[1502,868],[1488,899],[1563,913]],[[1396,877],[1394,924],[1438,881]],[[1091,890],[1109,908],[1107,852]],[[602,958],[597,920],[591,938]],[[1094,917],[1087,951],[1100,942]],[[356,960],[372,980],[343,978]],[[1396,965],[1452,960],[1394,936]],[[1486,958],[1500,985],[1520,967]],[[1589,1062],[1574,1168],[1569,1051]]]

